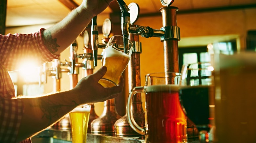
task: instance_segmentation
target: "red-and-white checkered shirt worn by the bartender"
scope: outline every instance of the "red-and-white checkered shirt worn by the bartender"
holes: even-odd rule
[[[8,71],[18,70],[25,59],[32,59],[41,66],[58,58],[43,44],[40,29],[34,34],[0,34],[0,142],[16,142],[23,114],[23,103],[15,98],[14,86]],[[31,143],[31,139],[22,141]]]

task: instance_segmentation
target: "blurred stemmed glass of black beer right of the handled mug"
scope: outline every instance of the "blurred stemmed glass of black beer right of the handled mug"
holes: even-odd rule
[[[181,70],[180,102],[182,109],[199,131],[200,143],[213,140],[214,69],[209,62],[184,64]]]

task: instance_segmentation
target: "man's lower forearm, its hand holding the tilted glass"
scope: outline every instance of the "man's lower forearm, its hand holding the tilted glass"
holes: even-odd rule
[[[18,141],[49,127],[79,105],[72,91],[59,92],[37,98],[20,98],[24,113],[18,133]]]

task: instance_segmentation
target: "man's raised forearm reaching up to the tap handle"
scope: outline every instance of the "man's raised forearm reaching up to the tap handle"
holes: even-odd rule
[[[51,53],[59,55],[77,38],[92,18],[91,12],[87,12],[79,6],[62,21],[44,31],[45,45]]]

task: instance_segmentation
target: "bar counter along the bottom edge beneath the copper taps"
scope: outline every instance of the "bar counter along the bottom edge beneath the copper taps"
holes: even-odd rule
[[[144,143],[144,139],[87,134],[87,143]],[[71,130],[46,129],[32,137],[34,143],[72,143]],[[198,138],[188,143],[200,143]]]

